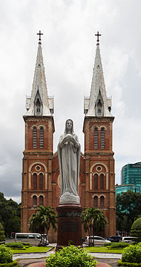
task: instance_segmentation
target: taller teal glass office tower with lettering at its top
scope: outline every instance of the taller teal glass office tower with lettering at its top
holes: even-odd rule
[[[141,162],[126,164],[121,170],[121,184],[135,184],[141,189]]]

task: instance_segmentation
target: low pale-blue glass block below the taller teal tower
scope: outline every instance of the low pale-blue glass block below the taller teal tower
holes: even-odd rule
[[[117,194],[121,194],[122,192],[128,192],[128,190],[131,190],[135,193],[140,193],[140,187],[137,187],[135,184],[116,184],[115,197],[117,196]]]

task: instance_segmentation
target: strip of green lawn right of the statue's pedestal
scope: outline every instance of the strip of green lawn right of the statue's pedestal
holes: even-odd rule
[[[85,246],[86,251],[96,253],[122,253],[123,248],[107,248],[106,246]]]

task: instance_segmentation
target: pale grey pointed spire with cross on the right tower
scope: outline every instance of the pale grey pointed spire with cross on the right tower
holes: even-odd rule
[[[97,33],[99,37],[101,34]],[[90,98],[84,99],[84,113],[87,116],[111,117],[111,99],[106,97],[106,88],[103,78],[99,38],[96,44],[96,58],[91,82]]]

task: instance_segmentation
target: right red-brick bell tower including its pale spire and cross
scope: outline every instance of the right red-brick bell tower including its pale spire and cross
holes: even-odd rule
[[[107,224],[103,236],[115,235],[115,167],[111,98],[106,96],[99,33],[90,97],[84,99],[84,156],[86,159],[85,208],[103,211]]]

